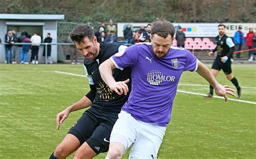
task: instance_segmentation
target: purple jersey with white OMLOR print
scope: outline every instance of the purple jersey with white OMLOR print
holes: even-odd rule
[[[137,120],[167,126],[181,73],[196,71],[197,58],[184,48],[172,46],[165,57],[158,59],[151,47],[133,45],[110,59],[119,69],[132,68],[132,89],[122,110]]]

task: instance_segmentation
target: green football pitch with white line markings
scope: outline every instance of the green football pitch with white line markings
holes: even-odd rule
[[[158,158],[256,158],[256,67],[232,69],[242,97],[228,96],[234,100],[226,103],[201,96],[208,83],[183,73]],[[84,112],[72,112],[56,130],[56,114],[89,91],[87,78],[78,75],[82,64],[0,64],[0,158],[49,158]],[[217,79],[233,86],[222,71]]]

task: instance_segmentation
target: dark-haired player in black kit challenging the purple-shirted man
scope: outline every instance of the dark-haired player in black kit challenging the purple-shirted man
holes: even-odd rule
[[[75,42],[79,53],[85,57],[84,69],[89,78],[91,90],[78,102],[57,114],[57,129],[68,118],[70,112],[91,107],[70,128],[50,158],[66,158],[74,151],[76,153],[73,158],[92,158],[109,149],[113,125],[121,107],[129,97],[127,92],[124,92],[124,95],[118,95],[103,82],[99,74],[99,64],[124,50],[126,46],[97,42],[92,27],[88,25],[76,27],[70,32],[70,38]],[[130,90],[131,68],[113,69],[112,71],[117,81],[127,83],[127,87],[123,86],[123,89]]]

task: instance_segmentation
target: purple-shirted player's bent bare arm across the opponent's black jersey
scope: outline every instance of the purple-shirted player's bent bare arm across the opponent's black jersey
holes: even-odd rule
[[[130,79],[126,79],[126,81],[120,81],[116,82],[114,80],[114,77],[112,76],[112,69],[116,68],[112,60],[108,59],[104,61],[99,66],[99,73],[100,76],[102,76],[103,81],[109,85],[109,88],[113,91],[115,91],[118,95],[127,95],[127,92],[129,91],[128,86],[126,83],[130,81]]]

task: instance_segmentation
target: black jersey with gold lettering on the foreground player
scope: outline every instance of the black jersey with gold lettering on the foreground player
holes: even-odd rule
[[[118,95],[112,91],[109,86],[102,80],[99,73],[99,64],[109,59],[112,55],[125,49],[126,46],[120,44],[100,44],[99,55],[94,60],[84,60],[84,68],[86,76],[89,78],[89,84],[91,90],[96,91],[95,98],[92,101],[92,105],[89,110],[89,114],[93,113],[96,117],[103,119],[110,119],[115,121],[118,118],[122,106],[128,100],[131,91],[131,81],[127,83],[129,93],[125,95]],[[116,81],[125,81],[131,79],[131,68],[125,68],[123,70],[113,69],[113,77]],[[94,87],[92,85],[95,85]],[[114,119],[113,119],[114,118]]]

